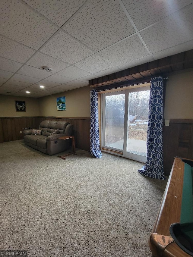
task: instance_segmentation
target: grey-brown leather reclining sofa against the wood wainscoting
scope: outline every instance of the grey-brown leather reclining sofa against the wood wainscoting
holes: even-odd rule
[[[73,125],[69,122],[42,121],[39,130],[42,130],[40,135],[32,135],[32,129],[24,130],[24,143],[27,146],[49,155],[65,151],[70,147],[71,139],[58,139],[61,136],[72,135]],[[54,130],[57,130],[58,134],[52,134]]]

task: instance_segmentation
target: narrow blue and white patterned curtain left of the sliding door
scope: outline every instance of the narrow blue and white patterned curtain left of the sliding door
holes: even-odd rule
[[[101,158],[99,141],[99,114],[98,114],[98,92],[90,90],[90,154]]]

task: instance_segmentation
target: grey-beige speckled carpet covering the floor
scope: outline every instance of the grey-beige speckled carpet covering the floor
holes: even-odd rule
[[[66,160],[0,144],[0,249],[29,257],[147,257],[166,180],[143,164],[78,150]]]

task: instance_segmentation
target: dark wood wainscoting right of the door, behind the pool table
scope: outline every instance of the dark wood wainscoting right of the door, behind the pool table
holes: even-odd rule
[[[193,120],[171,119],[163,126],[164,174],[169,176],[174,157],[193,159]]]

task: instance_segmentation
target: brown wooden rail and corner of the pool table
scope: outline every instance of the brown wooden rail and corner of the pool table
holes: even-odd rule
[[[190,257],[173,240],[169,233],[172,223],[180,222],[184,162],[175,157],[160,209],[149,237],[149,247],[154,257]],[[192,160],[189,160],[192,161]]]

